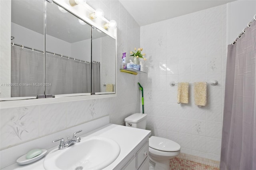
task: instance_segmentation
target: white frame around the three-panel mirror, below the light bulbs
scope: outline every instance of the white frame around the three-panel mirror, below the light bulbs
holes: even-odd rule
[[[73,8],[70,6],[68,1],[63,0],[45,0],[46,3],[54,2],[58,6],[65,8],[68,12],[72,13],[74,16],[84,20],[90,26],[96,27],[98,30],[104,32],[108,36],[112,37],[116,41],[116,49],[115,49],[115,93],[114,94],[100,94],[100,95],[83,95],[83,96],[69,96],[69,97],[58,97],[58,98],[43,98],[43,99],[17,99],[17,100],[9,100],[9,101],[0,101],[0,108],[13,108],[13,107],[22,107],[22,106],[32,106],[32,105],[43,105],[50,103],[62,103],[62,102],[70,102],[70,101],[81,101],[81,100],[91,100],[91,99],[102,99],[109,97],[117,96],[117,28],[114,30],[105,30],[102,26],[104,23],[109,22],[106,18],[102,18],[100,23],[93,22],[88,18],[89,14],[94,12],[95,10],[90,7],[88,4],[79,4]],[[10,9],[11,10],[11,9]],[[86,12],[85,12],[86,11]],[[9,42],[6,42],[9,43]],[[10,44],[10,43],[9,43]]]

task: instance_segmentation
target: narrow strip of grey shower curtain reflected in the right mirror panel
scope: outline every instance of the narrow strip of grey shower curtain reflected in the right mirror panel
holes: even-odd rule
[[[100,63],[92,62],[92,93],[100,92]]]

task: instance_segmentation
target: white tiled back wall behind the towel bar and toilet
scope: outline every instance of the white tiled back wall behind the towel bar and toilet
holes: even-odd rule
[[[220,160],[224,103],[226,5],[141,27],[148,76],[141,76],[147,128],[180,144],[181,152]],[[207,105],[177,104],[177,85],[170,82],[217,80],[207,85]]]

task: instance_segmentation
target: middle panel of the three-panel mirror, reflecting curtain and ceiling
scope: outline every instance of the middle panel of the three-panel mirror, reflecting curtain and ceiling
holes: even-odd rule
[[[91,26],[46,2],[46,94],[90,95],[90,61]]]

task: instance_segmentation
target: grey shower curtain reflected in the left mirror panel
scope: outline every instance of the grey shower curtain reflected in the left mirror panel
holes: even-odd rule
[[[11,97],[32,97],[44,94],[44,55],[19,46],[11,47]]]

